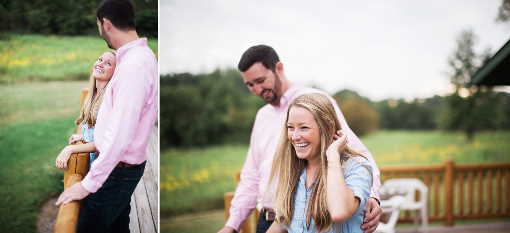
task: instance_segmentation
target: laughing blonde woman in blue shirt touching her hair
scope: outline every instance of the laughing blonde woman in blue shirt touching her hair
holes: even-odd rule
[[[277,217],[267,232],[363,232],[371,187],[370,162],[347,146],[329,99],[294,99],[271,169]]]

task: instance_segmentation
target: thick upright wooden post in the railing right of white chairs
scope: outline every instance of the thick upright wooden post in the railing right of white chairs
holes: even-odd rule
[[[444,210],[445,210],[445,225],[453,226],[453,158],[447,157],[444,160],[445,173],[444,173]]]

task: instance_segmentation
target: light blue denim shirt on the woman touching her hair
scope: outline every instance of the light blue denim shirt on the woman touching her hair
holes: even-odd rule
[[[372,172],[372,166],[370,165],[370,162],[362,157],[357,157],[356,159],[367,166],[370,169],[370,172]],[[361,163],[358,163],[352,159],[348,159],[346,161],[346,167],[342,169],[345,183],[347,183],[347,186],[352,190],[354,196],[360,198],[360,207],[354,215],[347,219],[347,221],[340,223],[342,226],[341,232],[363,232],[361,225],[363,224],[363,217],[365,208],[367,207],[367,201],[368,198],[370,198],[370,189],[372,188],[372,175]],[[307,230],[307,209],[308,203],[310,201],[310,194],[312,192],[312,185],[310,185],[310,187],[307,189],[305,186],[306,180],[307,172],[305,168],[299,177],[299,184],[296,189],[294,215],[292,217],[292,222],[290,227],[282,226],[283,229],[286,229],[292,233],[317,232],[317,230],[314,229],[314,219],[312,219],[310,222],[310,230]],[[338,223],[334,223],[333,226],[331,226],[331,229],[329,229],[327,232],[337,233]]]

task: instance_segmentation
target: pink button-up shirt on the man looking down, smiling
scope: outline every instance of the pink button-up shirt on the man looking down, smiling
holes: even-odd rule
[[[324,94],[331,100],[342,126],[342,131],[347,133],[349,146],[367,156],[372,164],[374,179],[370,197],[379,199],[379,188],[381,186],[379,168],[377,168],[372,154],[347,125],[337,102],[320,90],[307,88],[303,83],[298,83],[284,93],[280,99],[279,107],[267,104],[257,113],[251,131],[250,147],[241,170],[241,182],[236,188],[236,193],[231,202],[230,217],[225,226],[230,226],[239,232],[257,202],[262,203],[266,209],[272,209],[269,198],[271,193],[265,196],[264,193],[269,182],[274,153],[287,118],[287,109],[296,97],[307,93]],[[269,190],[269,192],[271,191]]]

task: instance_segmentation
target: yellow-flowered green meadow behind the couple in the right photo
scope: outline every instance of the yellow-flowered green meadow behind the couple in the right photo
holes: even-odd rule
[[[481,132],[473,143],[462,133],[379,131],[361,138],[378,165],[510,161],[510,132]],[[223,145],[161,151],[161,215],[223,207],[223,193],[234,191],[234,171],[241,169],[248,147]]]

